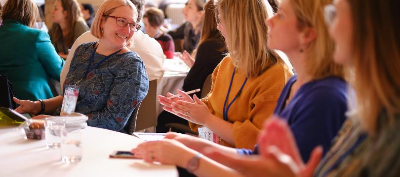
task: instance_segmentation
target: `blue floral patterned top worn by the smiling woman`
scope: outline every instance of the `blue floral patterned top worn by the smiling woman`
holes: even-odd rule
[[[64,91],[67,85],[74,85],[84,77],[96,43],[84,43],[77,48],[64,82]],[[96,53],[91,67],[105,57]],[[75,112],[88,116],[89,126],[124,132],[128,118],[145,98],[148,89],[149,79],[139,55],[136,52],[117,54],[80,81]],[[54,115],[58,116],[60,110]]]

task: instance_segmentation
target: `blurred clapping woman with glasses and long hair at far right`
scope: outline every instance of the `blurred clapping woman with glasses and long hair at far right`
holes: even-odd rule
[[[305,164],[293,135],[270,119],[260,136],[261,156],[212,156],[245,176],[398,177],[400,175],[399,0],[335,0],[325,18],[334,60],[350,69],[349,118],[321,160],[315,148]],[[350,94],[351,93],[351,94]],[[269,132],[277,133],[271,134]],[[246,164],[243,167],[243,164]]]

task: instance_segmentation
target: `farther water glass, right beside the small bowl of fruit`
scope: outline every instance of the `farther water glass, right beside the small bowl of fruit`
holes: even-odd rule
[[[61,134],[66,131],[65,118],[46,118],[44,122],[46,147],[60,148]]]

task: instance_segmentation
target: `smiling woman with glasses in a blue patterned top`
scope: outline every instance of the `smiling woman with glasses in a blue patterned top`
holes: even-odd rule
[[[143,61],[127,48],[140,29],[136,20],[137,10],[130,0],[106,0],[90,30],[99,42],[81,44],[74,53],[64,92],[69,86],[79,86],[75,112],[88,116],[89,126],[125,132],[128,118],[147,94]],[[58,116],[63,96],[36,102],[14,100],[21,105],[16,109],[20,113]]]

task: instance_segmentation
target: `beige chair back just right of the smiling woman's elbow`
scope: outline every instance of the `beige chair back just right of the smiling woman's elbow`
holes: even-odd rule
[[[136,130],[157,126],[157,104],[157,80],[152,80],[137,115]]]

